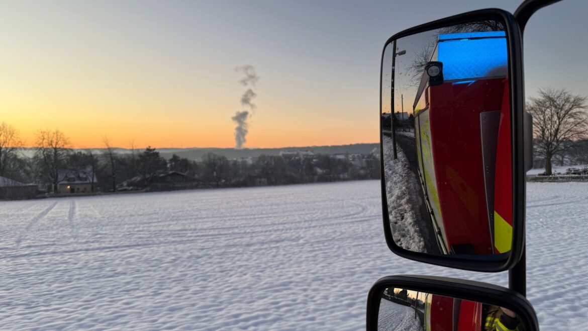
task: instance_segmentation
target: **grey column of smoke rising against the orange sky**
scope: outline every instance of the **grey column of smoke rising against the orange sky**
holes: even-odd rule
[[[240,149],[243,148],[243,144],[247,141],[247,133],[249,132],[249,124],[247,122],[253,115],[253,112],[255,112],[255,104],[251,101],[257,94],[250,87],[255,87],[255,83],[259,80],[259,77],[255,74],[255,68],[252,65],[236,67],[235,71],[241,72],[245,76],[239,82],[243,86],[249,87],[241,97],[241,105],[245,109],[236,112],[235,116],[230,118],[237,124],[235,128],[235,148]],[[246,108],[249,108],[249,111]]]

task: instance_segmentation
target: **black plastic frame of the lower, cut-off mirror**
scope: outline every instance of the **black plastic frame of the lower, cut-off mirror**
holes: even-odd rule
[[[539,330],[539,322],[533,306],[519,293],[505,287],[475,282],[473,280],[453,279],[435,276],[399,275],[387,276],[377,280],[368,294],[368,313],[366,330],[377,331],[377,317],[382,291],[387,287],[415,290],[455,297],[482,303],[496,304],[517,312],[517,317],[527,327],[527,331]]]

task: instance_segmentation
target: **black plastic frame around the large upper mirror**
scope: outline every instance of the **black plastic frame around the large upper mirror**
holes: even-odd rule
[[[524,90],[523,90],[523,54],[522,54],[522,36],[519,25],[515,18],[509,12],[502,9],[481,9],[478,11],[466,12],[455,16],[439,19],[437,21],[418,25],[416,27],[406,29],[390,37],[384,44],[382,50],[382,61],[380,62],[380,111],[382,110],[382,70],[383,59],[386,46],[395,39],[407,37],[409,35],[417,34],[419,32],[430,31],[432,29],[447,27],[448,25],[463,24],[472,21],[495,20],[505,24],[505,32],[507,35],[508,45],[508,67],[510,79],[510,109],[511,111],[511,138],[512,138],[512,178],[513,178],[513,241],[509,257],[506,260],[499,261],[483,261],[478,256],[471,259],[467,257],[453,257],[443,255],[432,255],[427,253],[418,253],[403,249],[398,246],[392,238],[392,230],[390,229],[390,219],[388,215],[388,207],[386,201],[386,183],[384,177],[383,164],[383,144],[382,136],[380,135],[380,182],[382,185],[382,213],[384,223],[384,234],[386,243],[389,249],[406,259],[436,264],[439,266],[452,267],[464,270],[473,270],[478,272],[501,272],[515,266],[519,262],[524,250],[524,219],[525,219],[525,157],[523,153],[524,148]],[[382,121],[378,118],[380,123],[380,132],[382,132]]]

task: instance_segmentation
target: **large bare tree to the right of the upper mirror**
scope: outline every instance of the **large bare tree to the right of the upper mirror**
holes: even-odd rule
[[[552,158],[575,141],[586,137],[588,113],[586,97],[566,90],[539,89],[539,97],[529,98],[527,111],[533,115],[536,154],[545,159],[545,174],[552,174]]]

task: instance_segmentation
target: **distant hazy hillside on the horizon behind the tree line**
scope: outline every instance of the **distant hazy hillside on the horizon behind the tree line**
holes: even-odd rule
[[[236,150],[235,148],[158,148],[157,150],[162,157],[171,158],[173,154],[179,157],[185,157],[189,160],[196,160],[207,153],[214,153],[222,155],[226,158],[241,158],[241,157],[258,157],[259,155],[279,155],[282,151],[312,151],[315,154],[370,154],[374,148],[379,150],[379,144],[352,144],[352,145],[336,145],[336,146],[308,146],[308,147],[282,147],[282,148],[243,148]],[[78,149],[83,151],[82,149]],[[92,148],[93,153],[100,154],[103,148]],[[34,148],[25,148],[23,154],[31,157],[34,154]],[[131,153],[131,150],[126,148],[115,148],[116,153],[126,154]],[[142,150],[140,150],[142,151]]]

